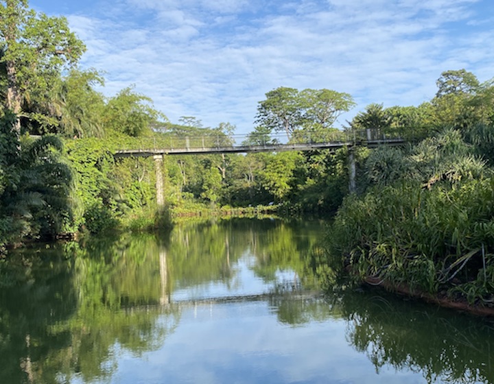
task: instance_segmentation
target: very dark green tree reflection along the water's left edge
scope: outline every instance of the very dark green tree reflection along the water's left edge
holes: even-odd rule
[[[0,268],[0,383],[54,378],[54,366],[45,359],[47,346],[64,348],[69,335],[46,328],[73,315],[77,293],[71,261],[49,249],[29,258],[12,253]]]

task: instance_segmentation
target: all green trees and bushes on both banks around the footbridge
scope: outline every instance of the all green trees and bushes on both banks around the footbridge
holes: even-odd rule
[[[353,148],[357,193],[348,195],[348,149],[166,156],[159,207],[152,159],[115,159],[115,149],[185,137],[228,144],[235,126],[169,122],[132,87],[104,97],[102,75],[77,66],[85,47],[67,20],[36,14],[27,0],[0,3],[0,43],[1,247],[163,226],[170,214],[211,207],[274,204],[329,215],[341,206],[331,249],[360,278],[493,300],[492,82],[446,71],[431,101],[359,112],[343,133],[399,134],[410,146]],[[333,125],[354,105],[347,93],[279,87],[259,102],[245,143],[276,143],[278,132],[292,143],[329,140],[342,134]]]

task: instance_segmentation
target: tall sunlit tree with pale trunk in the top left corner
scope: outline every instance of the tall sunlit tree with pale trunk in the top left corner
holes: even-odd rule
[[[27,0],[0,1],[0,64],[5,71],[4,107],[19,115],[28,94],[45,93],[62,68],[77,63],[84,44],[70,32],[67,19],[36,14]]]

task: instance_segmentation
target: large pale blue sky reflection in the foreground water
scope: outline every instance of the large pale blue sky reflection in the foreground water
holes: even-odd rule
[[[113,383],[421,383],[420,374],[379,372],[345,339],[346,322],[277,322],[266,302],[183,311],[165,344],[123,355]]]

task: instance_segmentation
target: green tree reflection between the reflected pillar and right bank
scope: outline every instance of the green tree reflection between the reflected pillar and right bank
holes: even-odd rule
[[[167,252],[171,289],[211,281],[234,282],[232,265],[248,252],[256,257],[255,274],[275,282],[277,272],[290,272],[295,283],[315,287],[314,272],[322,253],[323,224],[272,219],[228,219],[176,226]],[[200,234],[200,235],[195,235]]]

